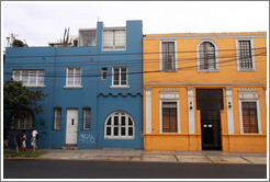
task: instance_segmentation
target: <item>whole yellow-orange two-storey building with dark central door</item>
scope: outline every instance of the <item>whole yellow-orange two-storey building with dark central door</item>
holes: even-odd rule
[[[267,151],[267,33],[144,36],[144,149]]]

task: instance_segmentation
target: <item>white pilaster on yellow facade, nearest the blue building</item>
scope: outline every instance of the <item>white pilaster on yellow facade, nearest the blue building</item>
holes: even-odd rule
[[[145,88],[145,130],[151,134],[151,88]]]

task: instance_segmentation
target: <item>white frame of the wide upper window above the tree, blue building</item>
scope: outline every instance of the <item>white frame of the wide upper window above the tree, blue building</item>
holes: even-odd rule
[[[44,88],[45,86],[44,86],[44,77],[45,77],[45,71],[44,70],[42,70],[42,69],[15,69],[15,70],[13,70],[13,76],[12,76],[12,78],[15,80],[15,71],[19,71],[19,80],[20,81],[22,81],[23,82],[23,79],[22,79],[22,75],[23,75],[23,71],[27,71],[27,83],[25,84],[24,82],[23,82],[23,86],[25,86],[25,87],[27,87],[27,88]],[[30,84],[30,71],[35,71],[35,84]],[[40,84],[40,82],[38,82],[38,80],[40,80],[40,78],[42,78],[41,77],[41,72],[43,72],[43,82],[42,82],[42,84]],[[16,80],[16,81],[19,81],[19,80]]]

